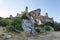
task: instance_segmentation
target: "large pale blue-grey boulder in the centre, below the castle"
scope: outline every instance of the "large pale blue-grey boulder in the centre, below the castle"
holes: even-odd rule
[[[36,34],[37,32],[34,29],[34,24],[30,20],[23,19],[22,28],[24,32]]]

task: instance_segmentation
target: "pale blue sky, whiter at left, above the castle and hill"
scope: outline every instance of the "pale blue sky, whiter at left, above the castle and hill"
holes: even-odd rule
[[[47,12],[54,21],[60,22],[60,0],[0,0],[0,17],[16,16],[26,6],[29,11],[40,8],[41,15]]]

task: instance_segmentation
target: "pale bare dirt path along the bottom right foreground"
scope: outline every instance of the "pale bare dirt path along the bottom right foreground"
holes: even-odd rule
[[[46,36],[40,36],[38,38],[28,38],[28,40],[60,40],[60,32],[51,32]]]

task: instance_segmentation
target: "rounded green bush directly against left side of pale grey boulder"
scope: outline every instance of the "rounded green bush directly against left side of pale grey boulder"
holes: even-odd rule
[[[17,30],[21,31],[22,30],[21,22],[22,22],[22,19],[20,17],[17,17],[17,18],[14,18],[11,25],[15,27]]]

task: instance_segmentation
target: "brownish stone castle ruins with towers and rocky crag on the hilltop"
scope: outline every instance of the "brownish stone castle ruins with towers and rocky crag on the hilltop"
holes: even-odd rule
[[[38,25],[46,22],[53,22],[53,18],[50,18],[48,16],[48,13],[45,13],[43,16],[40,14],[40,12],[41,12],[41,9],[36,9],[28,12],[28,7],[26,6],[25,11],[21,12],[21,14],[17,13],[16,17],[21,17],[24,13],[26,13],[26,16],[29,19],[34,20]],[[12,18],[12,15],[10,15],[10,18]]]

